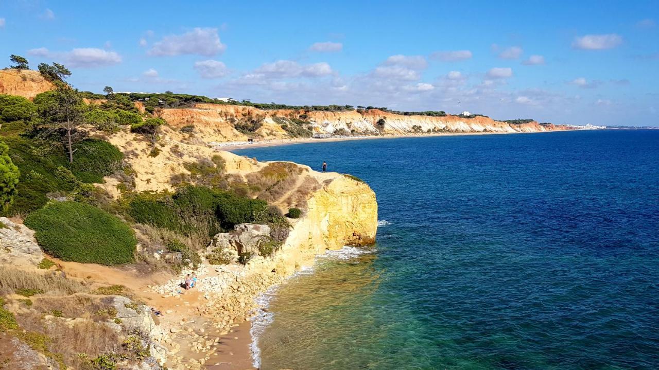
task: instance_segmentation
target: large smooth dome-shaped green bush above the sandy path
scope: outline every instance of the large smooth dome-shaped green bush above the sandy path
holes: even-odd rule
[[[133,260],[137,240],[117,217],[92,205],[55,202],[31,213],[25,225],[35,230],[42,249],[63,261],[118,265]]]

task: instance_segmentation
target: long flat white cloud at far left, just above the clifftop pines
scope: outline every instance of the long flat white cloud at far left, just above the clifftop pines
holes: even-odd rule
[[[45,47],[28,50],[28,55],[34,57],[49,57],[65,63],[67,66],[94,68],[111,66],[121,63],[121,55],[115,51],[98,49],[96,47],[80,47],[71,51],[49,51]]]

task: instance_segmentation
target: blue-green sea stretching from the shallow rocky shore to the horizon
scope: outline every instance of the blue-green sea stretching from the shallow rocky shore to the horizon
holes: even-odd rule
[[[379,205],[374,246],[277,290],[262,370],[659,369],[659,130],[235,153],[326,161]]]

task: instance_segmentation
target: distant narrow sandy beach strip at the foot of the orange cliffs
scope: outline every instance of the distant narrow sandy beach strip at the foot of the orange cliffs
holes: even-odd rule
[[[592,130],[605,130],[592,129]],[[341,136],[337,138],[314,139],[314,138],[295,138],[295,139],[273,139],[262,140],[258,142],[223,142],[219,145],[210,145],[215,150],[234,151],[241,149],[248,149],[250,147],[270,147],[281,145],[295,145],[295,144],[308,144],[308,143],[323,143],[323,142],[346,142],[353,140],[376,140],[376,139],[403,139],[403,138],[432,138],[438,136],[476,136],[476,135],[513,135],[513,134],[548,134],[550,132],[574,132],[586,130],[553,130],[553,131],[534,131],[534,132],[445,132],[440,134],[420,134],[420,135],[386,135],[386,136]],[[591,131],[591,130],[588,130]]]

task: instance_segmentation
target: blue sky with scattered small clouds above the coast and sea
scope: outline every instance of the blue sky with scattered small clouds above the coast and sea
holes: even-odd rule
[[[0,1],[76,88],[659,124],[657,1]]]

